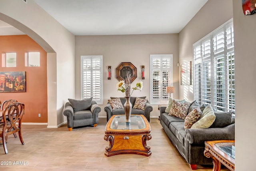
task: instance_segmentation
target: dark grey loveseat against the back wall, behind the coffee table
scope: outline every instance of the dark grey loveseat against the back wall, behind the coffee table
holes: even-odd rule
[[[124,106],[124,103],[126,102],[126,98],[125,97],[110,97],[110,99],[116,99],[116,98],[120,98],[122,106]],[[139,98],[146,99],[146,97],[139,97]],[[130,102],[132,104],[132,107],[134,106],[135,100],[136,100],[136,97],[130,97]],[[153,107],[150,105],[150,103],[147,100],[146,104],[144,106],[144,110],[132,108],[131,114],[144,115],[147,118],[148,122],[150,122],[150,112],[152,110],[153,110]],[[110,117],[112,117],[112,115],[124,115],[124,108],[112,109],[112,106],[110,105],[109,102],[104,107],[104,111],[106,111],[106,113],[107,113],[107,121],[110,119]]]

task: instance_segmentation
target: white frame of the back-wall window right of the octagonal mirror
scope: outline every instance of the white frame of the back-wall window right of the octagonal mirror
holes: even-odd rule
[[[153,59],[160,58],[160,68],[153,68]],[[169,58],[170,59],[170,67],[169,68],[162,68],[162,60],[163,58]],[[160,83],[160,99],[154,99],[154,87],[153,87],[153,73],[154,70],[160,70],[160,73],[163,73],[163,70],[169,71],[169,78],[167,78],[166,85],[163,85],[163,82]],[[163,80],[163,74],[160,75],[160,80]],[[152,54],[150,55],[150,104],[152,105],[160,105],[160,104],[168,104],[170,95],[166,93],[165,89],[166,86],[172,86],[173,85],[173,55],[172,54]],[[158,84],[159,86],[159,84]],[[173,97],[173,94],[171,94],[171,97]]]

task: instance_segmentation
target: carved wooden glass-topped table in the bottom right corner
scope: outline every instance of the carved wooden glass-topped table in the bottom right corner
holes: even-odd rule
[[[235,170],[235,141],[205,141],[204,155],[213,160],[212,171],[220,171],[220,163],[231,171]]]

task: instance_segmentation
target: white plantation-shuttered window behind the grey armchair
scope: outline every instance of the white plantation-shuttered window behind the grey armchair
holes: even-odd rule
[[[81,99],[93,97],[103,104],[102,59],[102,56],[81,56]]]

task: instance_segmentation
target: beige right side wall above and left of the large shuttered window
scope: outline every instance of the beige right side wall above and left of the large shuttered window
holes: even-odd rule
[[[179,33],[180,64],[184,61],[193,62],[193,44],[230,20],[232,16],[232,0],[208,0]],[[180,98],[194,100],[193,83],[180,85]]]

